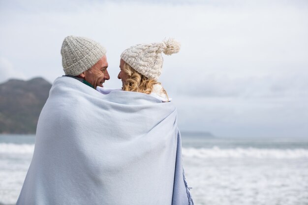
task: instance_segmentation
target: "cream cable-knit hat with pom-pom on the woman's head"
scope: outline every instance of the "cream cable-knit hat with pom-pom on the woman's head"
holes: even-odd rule
[[[178,53],[180,47],[181,44],[172,38],[161,43],[137,44],[123,51],[121,59],[140,74],[157,81],[163,63],[161,52],[171,55]]]

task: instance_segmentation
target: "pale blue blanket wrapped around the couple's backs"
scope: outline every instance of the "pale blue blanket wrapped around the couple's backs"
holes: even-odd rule
[[[174,104],[57,78],[17,205],[171,204],[193,204]]]

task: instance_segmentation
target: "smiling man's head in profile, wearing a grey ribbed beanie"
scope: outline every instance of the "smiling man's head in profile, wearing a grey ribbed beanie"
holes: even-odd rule
[[[92,88],[103,87],[109,80],[106,49],[84,37],[67,36],[61,49],[65,76],[75,78]]]

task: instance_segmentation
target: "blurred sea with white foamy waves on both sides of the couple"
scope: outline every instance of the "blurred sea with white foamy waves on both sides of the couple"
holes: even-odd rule
[[[33,135],[0,135],[0,205],[15,205]],[[308,205],[308,138],[183,135],[183,164],[195,205]]]

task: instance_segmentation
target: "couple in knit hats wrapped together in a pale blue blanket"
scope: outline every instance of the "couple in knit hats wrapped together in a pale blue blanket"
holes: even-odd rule
[[[157,82],[161,53],[179,49],[172,39],[126,49],[123,88],[108,89],[105,48],[67,36],[17,205],[193,205],[177,111]]]

